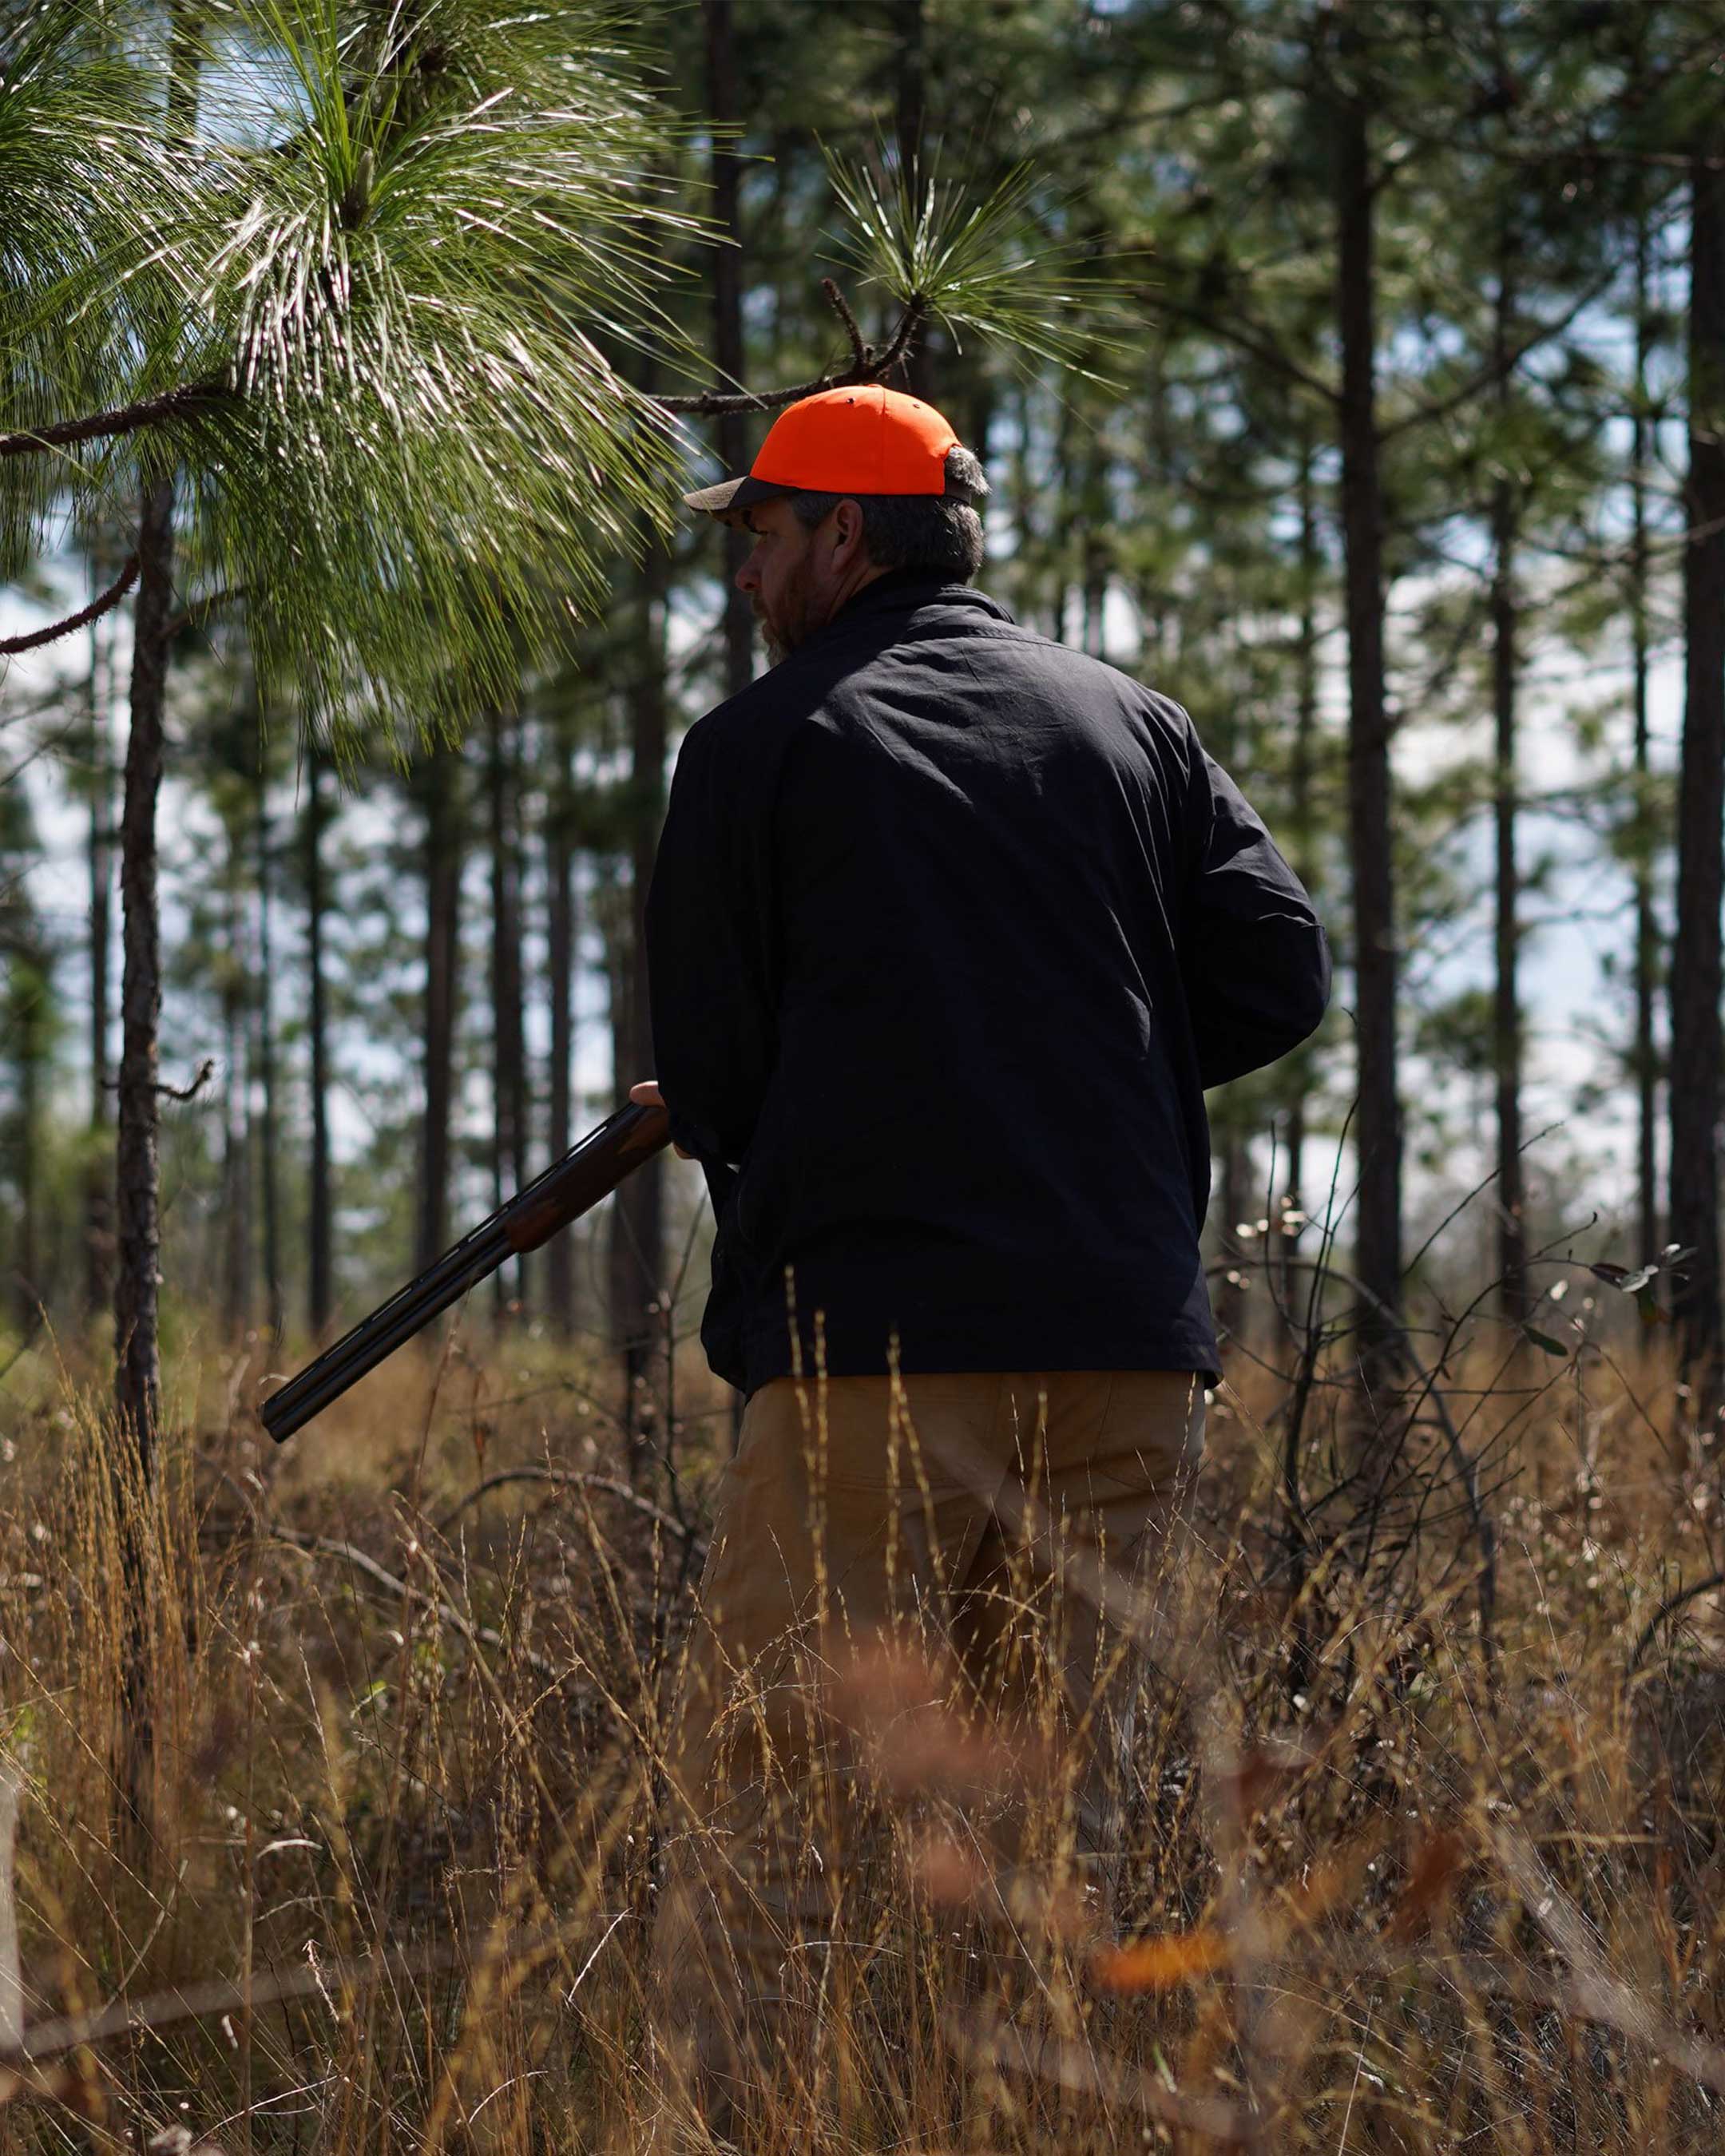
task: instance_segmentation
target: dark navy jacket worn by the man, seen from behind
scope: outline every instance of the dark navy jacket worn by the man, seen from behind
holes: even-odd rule
[[[722,1378],[1214,1371],[1203,1089],[1330,962],[1179,705],[880,578],[690,727],[647,964]]]

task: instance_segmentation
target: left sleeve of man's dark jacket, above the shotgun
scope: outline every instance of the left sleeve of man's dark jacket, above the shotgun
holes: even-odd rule
[[[772,815],[750,798],[755,761],[735,729],[688,731],[647,893],[653,1076],[671,1136],[709,1177],[746,1153],[776,1059]]]

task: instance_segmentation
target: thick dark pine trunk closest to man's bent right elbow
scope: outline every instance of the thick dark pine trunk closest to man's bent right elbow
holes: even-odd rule
[[[1348,604],[1348,843],[1358,1024],[1356,1259],[1367,1371],[1402,1307],[1402,1110],[1395,1089],[1395,865],[1384,696],[1384,505],[1378,476],[1374,188],[1365,103],[1330,108],[1341,326],[1341,535]]]

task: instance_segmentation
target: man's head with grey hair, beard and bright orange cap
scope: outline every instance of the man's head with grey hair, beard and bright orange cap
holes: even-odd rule
[[[985,496],[981,464],[936,410],[862,386],[789,405],[744,479],[686,500],[753,535],[737,584],[783,660],[888,569],[968,582]]]

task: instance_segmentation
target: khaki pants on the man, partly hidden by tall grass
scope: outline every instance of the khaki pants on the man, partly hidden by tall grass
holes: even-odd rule
[[[806,2040],[878,1846],[869,1789],[932,1794],[960,1822],[949,1869],[990,1891],[1089,1863],[1106,1915],[1145,1583],[1201,1449],[1188,1371],[753,1395],[668,1740],[653,1930],[662,2070],[705,2111]]]

